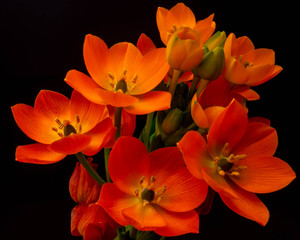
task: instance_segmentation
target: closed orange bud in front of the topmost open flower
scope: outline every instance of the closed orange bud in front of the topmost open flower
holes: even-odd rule
[[[200,32],[181,27],[170,38],[167,49],[169,65],[180,71],[190,71],[198,66],[203,57]]]

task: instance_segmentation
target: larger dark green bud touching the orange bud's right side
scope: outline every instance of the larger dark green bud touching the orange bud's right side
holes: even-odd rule
[[[223,48],[216,47],[203,57],[201,64],[193,72],[206,80],[217,79],[225,66],[225,55]]]

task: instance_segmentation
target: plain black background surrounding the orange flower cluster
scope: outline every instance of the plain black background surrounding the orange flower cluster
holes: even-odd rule
[[[158,6],[170,9],[177,1],[10,0],[0,7],[1,146],[0,239],[80,239],[70,234],[75,203],[68,181],[72,156],[47,166],[14,161],[18,145],[33,143],[15,124],[10,107],[33,105],[41,89],[70,97],[63,79],[70,69],[86,72],[82,45],[85,34],[101,37],[108,46],[136,43],[141,33],[163,46],[156,27]],[[261,100],[249,103],[250,116],[271,120],[278,131],[276,156],[299,171],[299,24],[297,5],[288,1],[184,1],[203,19],[215,13],[217,30],[247,35],[257,48],[276,52],[283,71],[255,87]],[[296,2],[294,2],[296,4]],[[3,114],[4,113],[4,114]],[[138,118],[143,120],[143,118]],[[100,153],[101,154],[101,153]],[[99,161],[99,160],[98,160]],[[101,166],[102,167],[102,166]],[[266,227],[229,210],[216,197],[209,215],[200,218],[200,239],[300,239],[299,180],[278,192],[260,195],[270,210]],[[189,235],[181,239],[199,239]]]

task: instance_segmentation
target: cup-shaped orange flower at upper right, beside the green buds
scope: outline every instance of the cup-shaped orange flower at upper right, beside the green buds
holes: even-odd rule
[[[282,67],[275,64],[271,49],[255,49],[252,41],[244,36],[236,38],[231,33],[224,45],[226,79],[234,84],[260,85],[275,77]]]

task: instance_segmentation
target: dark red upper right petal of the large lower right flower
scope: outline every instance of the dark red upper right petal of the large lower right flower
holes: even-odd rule
[[[251,122],[245,135],[232,150],[234,154],[273,156],[278,145],[276,130],[262,122]]]

